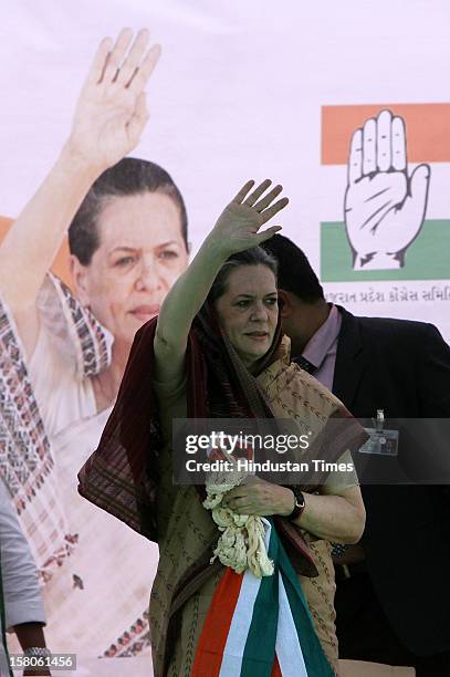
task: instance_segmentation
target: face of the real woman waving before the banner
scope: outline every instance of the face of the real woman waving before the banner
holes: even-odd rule
[[[240,265],[216,301],[222,331],[245,366],[265,355],[279,317],[276,281],[266,265]]]

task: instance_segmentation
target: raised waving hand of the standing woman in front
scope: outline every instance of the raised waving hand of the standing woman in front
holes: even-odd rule
[[[248,181],[220,215],[209,238],[227,258],[238,251],[261,244],[281,230],[281,226],[272,226],[260,231],[261,226],[284,209],[289,202],[287,198],[273,201],[283,187],[275,186],[266,192],[271,183],[265,179],[250,192],[254,181]]]

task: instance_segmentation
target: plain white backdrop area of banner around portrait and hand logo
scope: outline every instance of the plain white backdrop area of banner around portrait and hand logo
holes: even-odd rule
[[[318,271],[320,222],[342,220],[345,190],[344,166],[321,167],[322,106],[448,100],[446,0],[285,0],[276,8],[269,0],[22,0],[2,9],[4,216],[19,212],[56,157],[95,45],[122,25],[147,25],[163,45],[149,85],[151,119],[135,155],[160,163],[178,181],[193,249],[243,179],[270,176],[291,197],[285,235]],[[431,179],[433,218],[450,212],[447,176],[441,166]],[[326,290],[383,284],[334,282]],[[349,310],[423,319],[450,337],[450,299],[360,298],[349,298]]]

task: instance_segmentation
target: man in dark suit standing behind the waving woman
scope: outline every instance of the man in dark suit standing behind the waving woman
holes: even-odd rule
[[[378,410],[387,426],[389,419],[450,418],[450,348],[433,325],[356,317],[326,303],[306,257],[287,238],[276,235],[264,248],[279,261],[292,360],[357,418],[373,419]],[[421,479],[423,469],[436,480],[442,457],[436,444],[427,445],[432,426],[416,420],[419,434],[409,437],[400,429],[398,456],[355,455],[366,530],[336,566],[339,656],[415,666],[419,677],[450,676],[449,487],[364,483],[374,480],[362,461],[386,476],[395,464],[399,477]],[[450,447],[448,438],[435,435],[436,441]]]

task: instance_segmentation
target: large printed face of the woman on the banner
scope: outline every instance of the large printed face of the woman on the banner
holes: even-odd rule
[[[160,192],[114,197],[97,229],[91,263],[72,258],[76,292],[116,341],[132,343],[188,264],[179,209]]]

